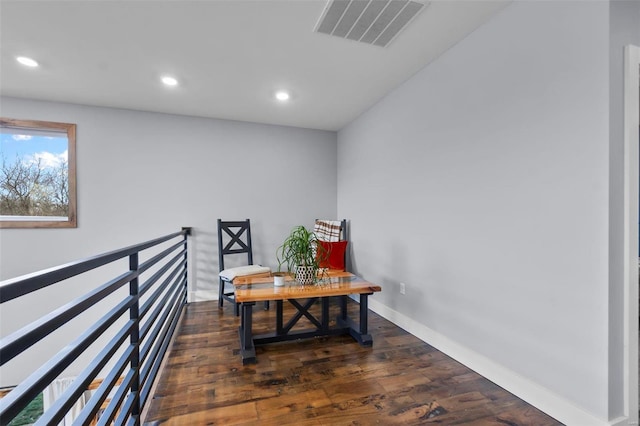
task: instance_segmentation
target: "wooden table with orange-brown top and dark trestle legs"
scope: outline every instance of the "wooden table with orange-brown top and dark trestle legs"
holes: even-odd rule
[[[373,339],[368,334],[367,297],[377,291],[381,291],[380,286],[371,284],[364,279],[349,272],[329,271],[318,284],[302,286],[296,283],[292,277],[287,277],[287,281],[282,287],[273,285],[271,275],[237,277],[233,284],[235,286],[236,302],[240,303],[241,322],[240,334],[240,354],[242,363],[249,364],[256,362],[256,345],[263,345],[273,342],[283,342],[297,340],[308,337],[332,336],[340,334],[350,334],[363,346],[371,346]],[[358,294],[360,296],[360,321],[356,324],[347,315],[347,296]],[[329,304],[332,296],[339,296],[340,314],[336,319],[336,326],[329,326]],[[300,299],[306,299],[301,302]],[[316,318],[309,312],[309,308],[320,299],[322,310],[320,318]],[[270,301],[276,302],[276,326],[272,333],[253,335],[252,317],[253,306],[256,302]],[[297,310],[296,314],[289,319],[287,324],[283,321],[283,304],[288,300]],[[293,326],[302,317],[306,317],[314,326],[314,329],[295,330]]]

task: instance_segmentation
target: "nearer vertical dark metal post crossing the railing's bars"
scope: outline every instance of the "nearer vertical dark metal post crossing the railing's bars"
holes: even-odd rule
[[[129,256],[129,270],[137,271],[139,265],[138,253]],[[140,425],[140,293],[138,275],[129,282],[129,294],[135,298],[135,303],[129,309],[129,318],[135,326],[131,329],[130,344],[133,346],[131,355],[131,369],[134,371],[131,382],[131,394],[134,397],[131,417],[135,425]]]

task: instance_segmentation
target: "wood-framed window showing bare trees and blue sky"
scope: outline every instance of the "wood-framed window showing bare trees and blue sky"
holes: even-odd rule
[[[75,228],[75,154],[75,124],[0,118],[0,228]]]

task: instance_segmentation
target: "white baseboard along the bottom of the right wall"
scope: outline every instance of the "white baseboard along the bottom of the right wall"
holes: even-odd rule
[[[369,299],[369,309],[566,425],[622,426],[627,424],[625,419],[616,419],[612,422],[599,419],[549,389],[372,298]]]

